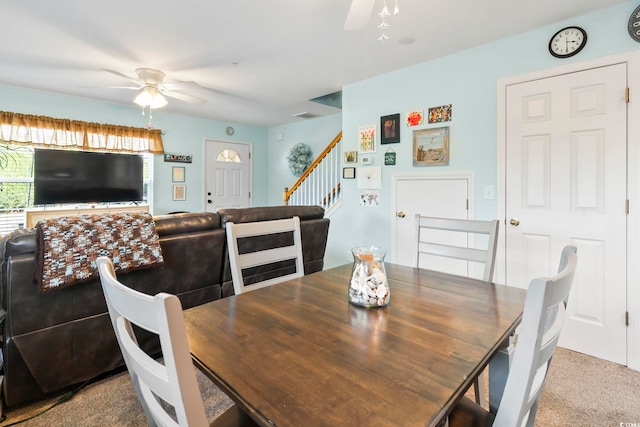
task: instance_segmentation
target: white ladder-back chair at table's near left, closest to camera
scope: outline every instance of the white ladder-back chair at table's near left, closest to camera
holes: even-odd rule
[[[149,426],[255,425],[236,405],[207,421],[178,297],[135,291],[118,281],[110,258],[99,257],[96,263],[111,323]],[[158,335],[162,362],[140,348],[133,325]]]

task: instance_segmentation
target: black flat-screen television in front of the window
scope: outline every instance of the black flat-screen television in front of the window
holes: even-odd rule
[[[132,154],[37,149],[34,204],[141,201],[142,160]]]

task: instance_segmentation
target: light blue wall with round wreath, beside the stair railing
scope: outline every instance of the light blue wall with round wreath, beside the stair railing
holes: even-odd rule
[[[307,144],[315,158],[341,130],[341,113],[269,129],[269,204],[282,205],[284,188],[290,188],[298,180],[287,162],[291,148],[300,142]]]

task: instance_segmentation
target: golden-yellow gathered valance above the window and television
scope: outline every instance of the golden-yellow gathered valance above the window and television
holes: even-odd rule
[[[0,140],[47,148],[164,153],[159,129],[134,128],[0,111]]]

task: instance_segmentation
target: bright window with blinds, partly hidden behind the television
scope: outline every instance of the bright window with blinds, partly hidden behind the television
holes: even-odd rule
[[[33,207],[33,153],[24,145],[0,142],[0,235],[25,224],[25,209]],[[144,201],[153,204],[153,155],[144,157]]]

